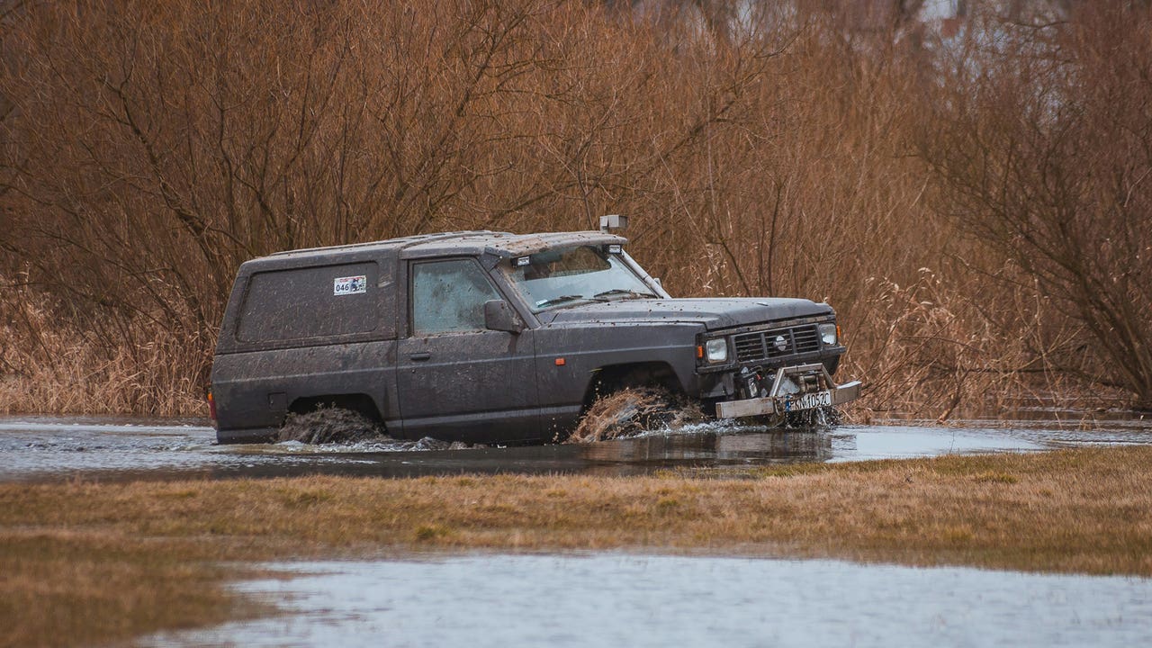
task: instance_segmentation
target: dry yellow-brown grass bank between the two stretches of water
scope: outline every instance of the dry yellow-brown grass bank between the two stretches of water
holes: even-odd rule
[[[220,566],[408,551],[639,550],[1152,575],[1152,449],[662,475],[0,485],[0,641],[262,613]]]

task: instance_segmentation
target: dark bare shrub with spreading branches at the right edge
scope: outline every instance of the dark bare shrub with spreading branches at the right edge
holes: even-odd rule
[[[983,29],[923,138],[940,210],[1082,326],[1054,369],[1152,407],[1152,22],[1093,2],[1043,29]]]

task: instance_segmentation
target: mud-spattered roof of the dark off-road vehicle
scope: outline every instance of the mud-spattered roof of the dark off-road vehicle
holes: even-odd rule
[[[348,253],[354,253],[357,257],[400,255],[401,258],[424,258],[452,255],[478,256],[482,254],[514,257],[555,247],[623,244],[627,242],[628,239],[607,232],[546,232],[539,234],[490,231],[444,232],[349,246],[287,250],[253,261],[275,261],[278,262],[275,265],[290,261],[295,265],[301,262],[333,261],[336,257],[347,256]]]

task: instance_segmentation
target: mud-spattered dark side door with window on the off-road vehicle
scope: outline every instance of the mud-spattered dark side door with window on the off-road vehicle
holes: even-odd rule
[[[475,258],[409,264],[408,337],[397,346],[404,436],[469,443],[539,438],[532,331],[490,331],[506,300]]]

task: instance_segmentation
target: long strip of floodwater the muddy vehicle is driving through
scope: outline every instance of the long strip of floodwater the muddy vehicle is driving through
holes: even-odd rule
[[[1030,452],[1089,444],[1152,444],[1152,421],[970,421],[766,430],[719,423],[592,444],[446,450],[437,443],[218,445],[203,420],[0,417],[0,480],[232,479],[332,474],[454,473],[636,475],[801,461],[856,461],[948,453]]]

